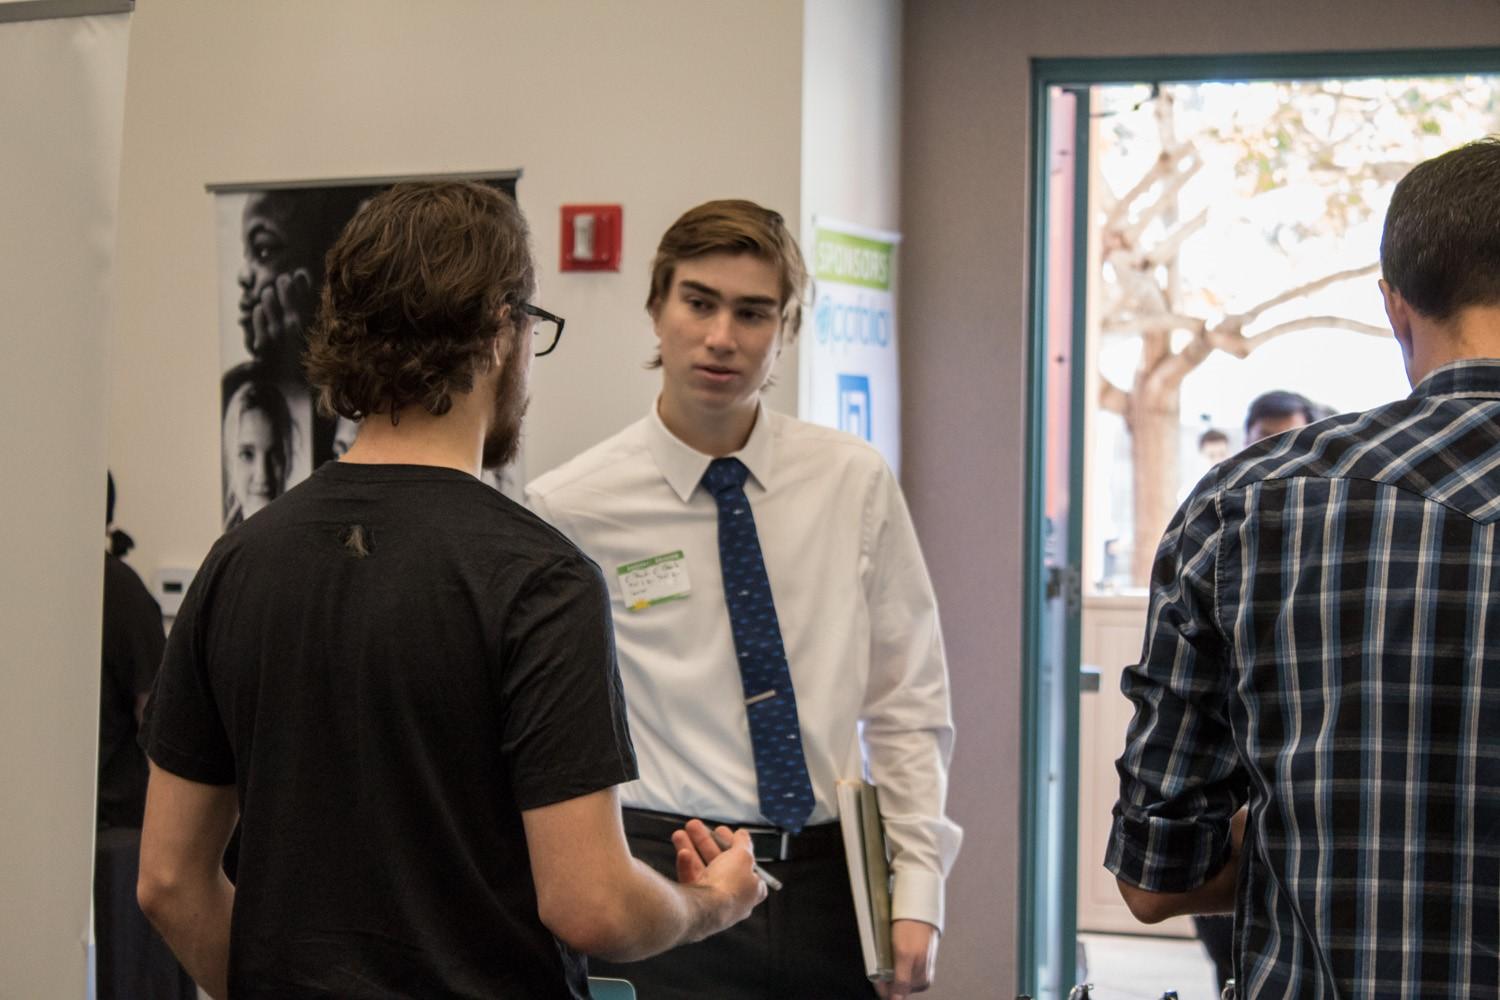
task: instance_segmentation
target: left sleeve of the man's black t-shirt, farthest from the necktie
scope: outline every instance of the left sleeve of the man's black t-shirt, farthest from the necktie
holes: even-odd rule
[[[206,562],[183,597],[146,706],[141,745],[156,766],[180,778],[234,784],[234,751],[204,657],[202,609],[210,579]]]

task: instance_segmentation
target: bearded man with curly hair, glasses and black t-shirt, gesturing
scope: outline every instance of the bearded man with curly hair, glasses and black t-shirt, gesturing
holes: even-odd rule
[[[678,883],[630,856],[603,579],[478,480],[561,333],[534,291],[476,183],[399,184],[328,253],[306,367],[358,436],[210,550],[147,723],[140,900],[214,997],[586,997],[584,954],[764,898],[748,834],[675,831]]]

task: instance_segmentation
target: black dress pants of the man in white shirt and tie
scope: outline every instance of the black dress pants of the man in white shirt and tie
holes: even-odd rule
[[[675,882],[670,840],[630,831],[627,816],[632,853]],[[628,979],[639,1000],[873,1000],[842,844],[760,867],[786,888],[746,921],[640,963],[590,958],[588,973]]]

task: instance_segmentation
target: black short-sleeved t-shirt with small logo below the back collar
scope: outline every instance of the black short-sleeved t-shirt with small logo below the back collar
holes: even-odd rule
[[[328,463],[220,538],[147,750],[238,787],[237,1000],[588,996],[520,811],[636,777],[609,597],[478,480]]]

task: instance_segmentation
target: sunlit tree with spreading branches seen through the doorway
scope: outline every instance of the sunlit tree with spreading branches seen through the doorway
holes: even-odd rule
[[[1137,357],[1124,378],[1098,367],[1095,405],[1128,429],[1128,580],[1144,586],[1185,486],[1184,381],[1215,352],[1281,337],[1389,337],[1348,303],[1377,298],[1390,190],[1413,163],[1500,132],[1500,97],[1479,76],[1098,93],[1092,321]]]

